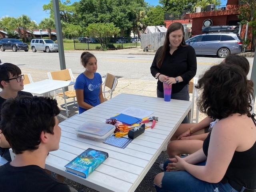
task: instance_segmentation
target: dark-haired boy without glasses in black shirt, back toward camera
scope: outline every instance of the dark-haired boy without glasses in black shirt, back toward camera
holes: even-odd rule
[[[44,170],[48,153],[59,148],[59,113],[50,98],[22,96],[4,102],[0,130],[16,157],[0,167],[0,191],[70,192]]]

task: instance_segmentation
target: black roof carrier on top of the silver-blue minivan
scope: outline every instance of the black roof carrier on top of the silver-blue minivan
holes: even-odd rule
[[[239,26],[235,25],[216,25],[216,26],[207,26],[202,27],[202,32],[211,33],[211,32],[233,32],[238,33]]]

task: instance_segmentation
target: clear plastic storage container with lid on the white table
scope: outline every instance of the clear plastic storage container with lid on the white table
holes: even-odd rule
[[[78,137],[103,142],[114,133],[116,126],[97,121],[88,121],[76,128]]]

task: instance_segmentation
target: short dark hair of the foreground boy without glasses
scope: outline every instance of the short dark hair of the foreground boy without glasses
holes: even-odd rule
[[[55,116],[60,113],[57,101],[47,97],[20,96],[2,105],[0,130],[15,154],[36,150],[40,134],[54,134]]]

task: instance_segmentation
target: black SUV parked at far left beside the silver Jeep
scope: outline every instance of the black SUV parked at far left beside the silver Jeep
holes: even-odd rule
[[[0,49],[1,51],[5,50],[12,50],[12,51],[17,51],[17,50],[24,50],[28,51],[28,44],[21,42],[18,39],[7,39],[4,38],[0,40]]]

